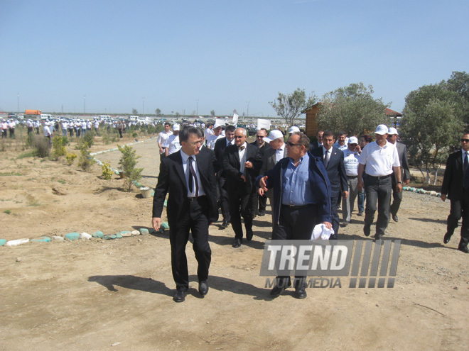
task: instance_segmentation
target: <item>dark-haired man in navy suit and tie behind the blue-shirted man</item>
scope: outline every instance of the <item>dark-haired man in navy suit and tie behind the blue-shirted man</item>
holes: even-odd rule
[[[338,239],[339,230],[339,214],[337,213],[338,205],[343,197],[347,199],[348,185],[347,174],[344,165],[344,153],[336,147],[333,147],[334,135],[330,131],[323,133],[323,146],[314,149],[311,153],[316,157],[320,157],[324,162],[325,170],[328,172],[330,181],[330,204],[332,206],[332,226],[334,234],[330,239]]]

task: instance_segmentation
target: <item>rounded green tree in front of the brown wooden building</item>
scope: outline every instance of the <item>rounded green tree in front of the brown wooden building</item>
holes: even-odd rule
[[[389,125],[389,117],[384,113],[387,105],[381,98],[374,99],[373,93],[371,85],[365,87],[360,82],[324,94],[318,116],[320,128],[362,135],[379,124]]]

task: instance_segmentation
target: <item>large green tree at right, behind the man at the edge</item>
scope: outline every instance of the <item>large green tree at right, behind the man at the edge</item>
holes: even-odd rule
[[[464,128],[460,102],[460,96],[444,81],[420,87],[406,96],[399,131],[411,163],[420,170],[426,184],[431,183],[432,172],[436,184],[450,147],[458,145]]]

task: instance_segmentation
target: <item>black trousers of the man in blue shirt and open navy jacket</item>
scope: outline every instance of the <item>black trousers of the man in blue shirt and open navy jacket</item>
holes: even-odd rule
[[[294,208],[281,205],[279,223],[274,225],[272,240],[311,240],[314,226],[317,221],[318,208],[316,205],[308,205]],[[277,276],[276,283],[279,287],[290,284],[289,276]],[[306,286],[306,275],[295,273],[295,288]]]

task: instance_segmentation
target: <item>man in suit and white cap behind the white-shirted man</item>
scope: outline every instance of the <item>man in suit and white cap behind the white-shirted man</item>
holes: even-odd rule
[[[401,163],[401,179],[405,185],[408,185],[410,182],[410,170],[409,170],[409,161],[407,160],[407,147],[405,144],[397,142],[397,129],[389,128],[389,133],[387,134],[387,141],[392,143],[397,148],[397,155],[399,155],[399,162]],[[389,208],[391,211],[391,216],[394,222],[399,221],[397,217],[397,211],[401,206],[402,201],[402,191],[397,191],[397,179],[396,177],[391,177],[392,179],[392,204]]]

